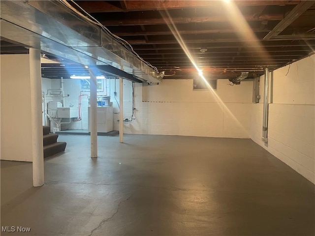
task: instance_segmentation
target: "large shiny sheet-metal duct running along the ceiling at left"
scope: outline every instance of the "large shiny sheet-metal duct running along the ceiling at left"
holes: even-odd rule
[[[100,26],[78,15],[62,1],[1,0],[1,37],[84,65],[111,65],[152,83],[158,73]]]

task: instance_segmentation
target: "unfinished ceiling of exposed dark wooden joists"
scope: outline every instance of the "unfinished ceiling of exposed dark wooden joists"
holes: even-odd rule
[[[165,71],[163,79],[198,75],[171,29],[177,29],[206,79],[234,79],[241,72],[253,78],[263,74],[264,67],[279,68],[314,53],[315,1],[75,2],[129,42],[140,57]],[[28,53],[23,45],[10,43],[1,40],[1,54]],[[64,74],[57,65],[48,67],[46,73],[55,78]]]

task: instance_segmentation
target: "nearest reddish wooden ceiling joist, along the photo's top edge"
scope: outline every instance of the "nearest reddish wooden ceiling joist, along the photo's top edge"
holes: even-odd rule
[[[123,12],[123,11],[147,11],[163,9],[182,9],[197,7],[220,6],[220,1],[214,0],[128,0],[124,1],[126,9],[114,6],[106,1],[84,0],[76,1],[83,9],[89,13],[97,12]],[[296,5],[299,0],[235,0],[238,6],[262,6],[262,5]],[[122,3],[122,1],[121,1]]]

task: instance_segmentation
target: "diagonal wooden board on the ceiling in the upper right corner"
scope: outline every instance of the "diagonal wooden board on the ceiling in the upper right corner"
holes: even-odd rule
[[[281,33],[286,27],[291,25],[299,16],[301,16],[307,9],[314,5],[315,1],[301,1],[297,4],[285,17],[284,19],[272,29],[265,37],[264,40],[268,40],[277,36]]]

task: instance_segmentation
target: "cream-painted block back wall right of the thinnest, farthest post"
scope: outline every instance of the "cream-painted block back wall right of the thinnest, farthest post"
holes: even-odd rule
[[[252,82],[218,80],[215,91],[193,90],[192,80],[134,86],[136,120],[124,133],[250,138]]]

